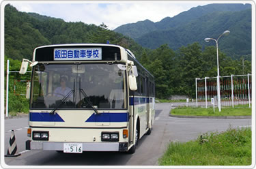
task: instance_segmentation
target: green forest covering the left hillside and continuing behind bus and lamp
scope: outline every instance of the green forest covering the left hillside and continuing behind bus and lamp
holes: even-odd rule
[[[226,37],[222,37],[223,39]],[[5,6],[5,71],[6,60],[10,70],[19,70],[23,58],[31,59],[33,48],[47,44],[100,43],[117,44],[130,49],[155,77],[156,97],[168,99],[171,95],[195,97],[195,78],[217,75],[216,46],[193,42],[173,50],[168,44],[156,49],[143,48],[130,37],[108,29],[107,25],[87,25],[83,22],[65,22],[58,18],[18,12],[11,5]],[[251,74],[251,61],[231,59],[219,51],[221,76]],[[25,84],[14,80],[29,80],[31,74],[10,74],[9,111],[28,112],[29,102],[16,93],[25,93]],[[6,91],[5,91],[6,92]]]

